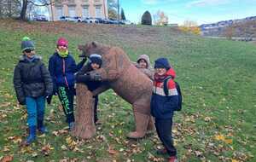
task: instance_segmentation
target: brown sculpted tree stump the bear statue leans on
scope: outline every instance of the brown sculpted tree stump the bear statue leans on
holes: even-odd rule
[[[96,134],[94,123],[94,98],[85,84],[77,84],[77,107],[73,136],[89,139]]]

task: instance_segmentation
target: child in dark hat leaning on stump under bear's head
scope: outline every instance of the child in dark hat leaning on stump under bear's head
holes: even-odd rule
[[[88,90],[96,90],[101,85],[101,81],[91,81],[90,75],[87,75],[86,72],[90,72],[102,67],[102,56],[93,54],[89,57],[89,63],[86,64],[76,75],[77,83],[86,84]],[[100,124],[100,120],[97,117],[97,105],[98,105],[98,95],[95,96],[94,104],[94,122],[95,124]]]

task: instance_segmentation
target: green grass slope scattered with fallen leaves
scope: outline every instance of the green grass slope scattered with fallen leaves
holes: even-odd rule
[[[181,161],[256,161],[255,44],[200,38],[169,27],[61,23],[53,25],[57,32],[39,32],[41,25],[48,24],[0,20],[0,158],[11,155],[14,161],[150,161],[148,156],[153,156],[155,161],[164,161],[155,154],[160,146],[155,133],[138,141],[125,138],[134,129],[131,105],[112,90],[100,95],[99,118],[103,124],[97,126],[95,138],[70,141],[68,133],[53,135],[67,126],[55,97],[46,109],[45,123],[50,133],[39,136],[31,147],[19,147],[20,138],[26,138],[26,107],[16,102],[12,78],[21,55],[20,39],[32,38],[38,55],[47,64],[56,39],[65,36],[76,61],[77,45],[92,40],[125,49],[132,61],[143,54],[149,55],[152,63],[160,56],[169,59],[183,90],[183,111],[175,114],[173,127]],[[52,149],[45,155],[42,149],[47,144]]]

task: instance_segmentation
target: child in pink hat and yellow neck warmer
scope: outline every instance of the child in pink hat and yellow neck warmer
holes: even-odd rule
[[[83,67],[85,60],[76,65],[73,56],[68,51],[68,42],[65,38],[59,38],[54,55],[49,58],[49,73],[53,80],[53,95],[58,95],[67,117],[69,130],[73,128],[73,96],[75,95],[74,73]]]

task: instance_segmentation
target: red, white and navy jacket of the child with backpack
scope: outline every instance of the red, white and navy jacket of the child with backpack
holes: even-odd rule
[[[175,72],[170,68],[166,72],[165,78],[172,76],[167,82],[167,89],[169,90],[168,96],[164,92],[164,80],[157,82],[154,80],[153,94],[151,97],[151,114],[156,119],[172,119],[173,110],[178,104],[178,95],[176,84],[173,80],[175,78]]]

